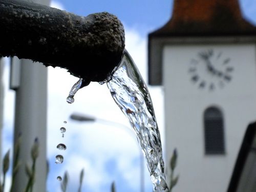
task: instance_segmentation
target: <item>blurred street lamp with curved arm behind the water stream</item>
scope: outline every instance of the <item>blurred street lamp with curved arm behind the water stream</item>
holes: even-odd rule
[[[125,130],[130,135],[134,136],[134,132],[130,129],[130,127],[128,127],[122,123],[115,122],[115,121],[110,121],[110,120],[106,120],[106,119],[100,119],[97,117],[80,115],[80,114],[72,114],[70,116],[70,119],[76,120],[76,121],[84,121],[84,122],[96,122],[97,121],[102,124],[111,124],[116,127],[123,127],[124,128],[123,130]],[[137,142],[137,140],[136,140],[136,143],[137,143],[137,146],[139,148],[139,153],[140,153],[140,191],[144,192],[144,157],[143,157],[143,154],[140,149],[140,145]]]

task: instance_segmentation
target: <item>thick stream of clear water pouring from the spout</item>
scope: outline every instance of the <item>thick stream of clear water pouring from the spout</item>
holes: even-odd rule
[[[110,93],[129,119],[142,148],[154,191],[169,191],[164,175],[160,133],[150,93],[132,57],[125,50],[119,67],[106,83]]]

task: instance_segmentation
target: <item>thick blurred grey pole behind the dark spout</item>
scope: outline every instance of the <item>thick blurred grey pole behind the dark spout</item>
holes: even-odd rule
[[[38,0],[35,3],[50,5],[50,0]],[[33,191],[45,192],[46,162],[46,131],[47,131],[47,69],[32,60],[20,60],[19,86],[15,88],[15,122],[14,143],[21,134],[19,152],[20,166],[15,177],[11,192],[24,191],[28,176],[25,165],[32,165],[31,147],[35,138],[39,142],[39,156],[36,160]],[[15,69],[15,63],[12,63]],[[18,64],[18,63],[17,63]],[[18,65],[17,65],[18,67]],[[14,70],[15,71],[15,70]],[[12,74],[15,75],[15,74]],[[11,78],[12,79],[12,78]]]

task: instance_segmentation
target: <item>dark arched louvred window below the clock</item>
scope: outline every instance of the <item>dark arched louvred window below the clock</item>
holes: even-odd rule
[[[205,154],[224,154],[224,126],[220,109],[211,106],[204,111]]]

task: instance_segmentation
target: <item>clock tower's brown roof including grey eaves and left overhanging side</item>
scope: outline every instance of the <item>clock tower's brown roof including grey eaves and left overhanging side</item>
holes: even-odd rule
[[[162,84],[164,45],[256,42],[256,27],[243,18],[238,0],[174,0],[173,16],[148,34],[148,80]]]

